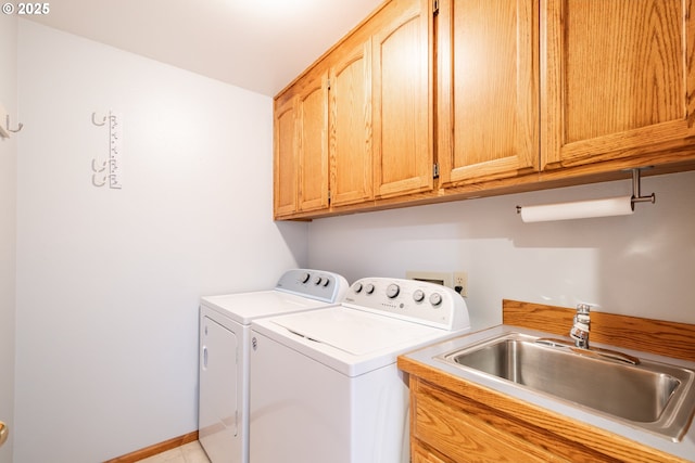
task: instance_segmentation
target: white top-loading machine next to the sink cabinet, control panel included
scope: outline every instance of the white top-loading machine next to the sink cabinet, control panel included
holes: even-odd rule
[[[251,463],[407,463],[399,355],[470,330],[453,290],[355,282],[343,304],[251,325]]]

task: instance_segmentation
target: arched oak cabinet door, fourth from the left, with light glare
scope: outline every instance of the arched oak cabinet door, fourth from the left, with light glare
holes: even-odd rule
[[[376,196],[431,190],[431,24],[428,0],[390,2],[372,38]]]

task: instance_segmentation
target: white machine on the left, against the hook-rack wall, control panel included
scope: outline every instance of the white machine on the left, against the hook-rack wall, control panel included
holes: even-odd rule
[[[249,462],[249,333],[260,317],[342,301],[336,273],[288,270],[273,290],[201,298],[199,439],[213,463]]]

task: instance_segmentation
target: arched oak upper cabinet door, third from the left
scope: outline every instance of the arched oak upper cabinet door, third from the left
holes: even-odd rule
[[[340,206],[374,197],[371,40],[340,54],[330,73],[330,193]]]

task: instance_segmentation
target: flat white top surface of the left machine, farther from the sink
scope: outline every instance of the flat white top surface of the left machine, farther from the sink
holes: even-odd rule
[[[331,305],[276,290],[206,296],[201,298],[201,304],[241,324],[250,324],[252,320],[261,317],[317,309]]]

